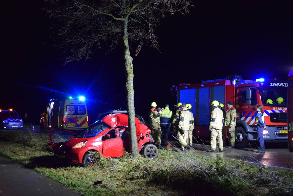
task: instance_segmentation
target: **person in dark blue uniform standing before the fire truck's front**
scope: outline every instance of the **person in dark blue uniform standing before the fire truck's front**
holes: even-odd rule
[[[259,151],[256,153],[265,153],[265,142],[263,141],[263,130],[267,129],[265,126],[265,116],[263,115],[263,107],[261,105],[256,106],[255,122],[257,124],[257,138],[259,141]]]

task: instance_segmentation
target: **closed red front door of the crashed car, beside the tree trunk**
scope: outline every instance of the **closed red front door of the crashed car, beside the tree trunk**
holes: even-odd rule
[[[105,135],[109,134],[109,138]],[[117,128],[107,131],[102,136],[102,149],[104,157],[120,157],[123,156],[123,142],[119,136]]]

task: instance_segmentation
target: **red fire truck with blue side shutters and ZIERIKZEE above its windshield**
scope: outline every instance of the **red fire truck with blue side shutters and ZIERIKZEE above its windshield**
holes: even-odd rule
[[[199,84],[183,83],[177,86],[177,101],[192,104],[195,118],[195,138],[210,138],[208,130],[211,102],[217,100],[225,105],[231,101],[236,108],[236,147],[258,141],[255,123],[256,106],[263,107],[267,129],[263,131],[265,142],[287,142],[287,80],[242,80],[232,75],[225,79],[206,80]],[[283,102],[277,102],[281,97]],[[278,99],[280,100],[280,99]],[[226,134],[227,138],[227,134]]]

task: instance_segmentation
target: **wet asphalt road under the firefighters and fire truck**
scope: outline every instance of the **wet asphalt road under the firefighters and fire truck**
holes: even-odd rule
[[[163,146],[163,148],[180,151],[180,148],[175,147],[175,143],[175,141],[170,141],[169,145]],[[284,147],[285,145],[283,147],[277,145],[274,148],[274,143],[270,143],[267,146],[265,153],[256,153],[258,148],[224,148],[223,152],[219,152],[217,148],[216,152],[207,152],[210,146],[194,143],[193,148],[186,152],[293,170],[293,153],[290,153],[289,149]]]

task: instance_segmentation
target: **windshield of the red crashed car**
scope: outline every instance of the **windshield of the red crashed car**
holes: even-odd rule
[[[94,137],[94,136],[98,135],[99,133],[101,133],[102,131],[104,131],[105,129],[108,129],[108,128],[110,128],[109,125],[107,125],[103,121],[99,120],[99,121],[95,122],[94,124],[92,124],[91,126],[89,126],[84,131],[82,131],[80,134],[75,136],[75,138]]]

